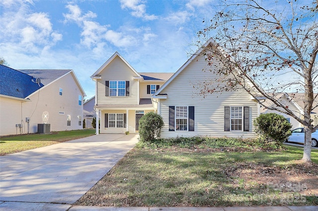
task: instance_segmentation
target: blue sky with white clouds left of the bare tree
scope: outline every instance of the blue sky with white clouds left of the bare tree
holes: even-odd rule
[[[73,69],[90,76],[116,51],[138,72],[186,62],[213,0],[0,0],[0,56],[14,69]]]

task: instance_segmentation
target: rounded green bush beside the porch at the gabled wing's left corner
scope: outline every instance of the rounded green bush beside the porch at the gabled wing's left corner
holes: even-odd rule
[[[143,142],[151,142],[160,137],[161,128],[164,126],[162,117],[154,112],[146,113],[139,120],[139,136]]]

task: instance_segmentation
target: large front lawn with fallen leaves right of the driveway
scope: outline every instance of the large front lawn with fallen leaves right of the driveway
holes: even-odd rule
[[[185,142],[183,143],[185,144]],[[303,150],[264,152],[138,145],[77,205],[115,207],[214,207],[318,205],[316,164]]]

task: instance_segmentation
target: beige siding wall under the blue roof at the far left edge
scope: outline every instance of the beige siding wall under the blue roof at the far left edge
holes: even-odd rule
[[[21,129],[25,131],[25,120],[21,121],[24,116],[21,107],[27,103],[0,97],[0,136],[20,134],[20,128],[16,128],[16,124],[22,124]]]

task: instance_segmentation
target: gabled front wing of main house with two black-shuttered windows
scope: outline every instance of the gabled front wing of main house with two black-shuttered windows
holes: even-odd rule
[[[194,53],[152,96],[164,121],[161,137],[255,137],[252,123],[259,115],[259,105],[243,88],[205,98],[200,95],[204,82],[219,83],[220,78],[210,71],[214,66],[204,55],[209,44]],[[214,64],[222,65],[217,59]]]

